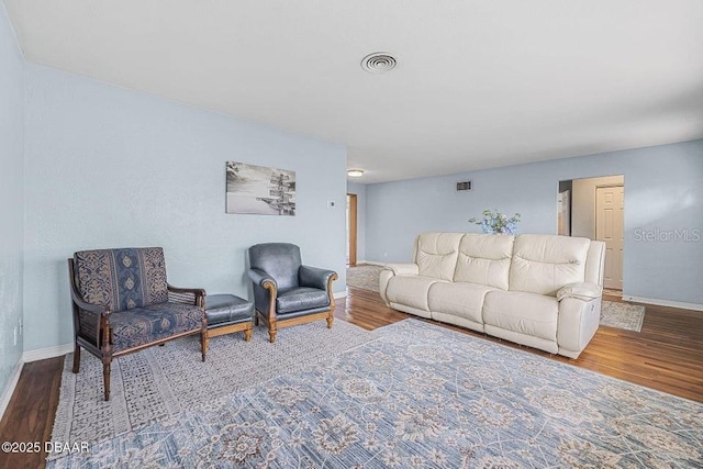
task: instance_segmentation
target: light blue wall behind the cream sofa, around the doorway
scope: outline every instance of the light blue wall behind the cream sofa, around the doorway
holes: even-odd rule
[[[467,220],[484,209],[520,212],[521,233],[556,233],[559,180],[610,175],[625,176],[625,293],[703,304],[703,239],[676,238],[703,237],[703,141],[369,185],[367,258],[408,261],[426,231],[479,232]],[[473,190],[456,192],[467,179]]]

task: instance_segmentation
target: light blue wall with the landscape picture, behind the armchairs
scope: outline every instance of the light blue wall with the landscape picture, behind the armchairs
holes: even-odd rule
[[[26,85],[26,350],[71,340],[79,249],[163,246],[170,283],[247,298],[245,249],[292,242],[344,291],[343,145],[36,65]],[[225,214],[227,160],[297,171],[297,215]]]

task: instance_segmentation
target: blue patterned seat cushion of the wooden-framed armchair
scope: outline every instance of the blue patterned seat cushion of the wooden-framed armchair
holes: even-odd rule
[[[110,314],[113,351],[149,344],[188,331],[200,331],[202,310],[192,304],[159,303]]]

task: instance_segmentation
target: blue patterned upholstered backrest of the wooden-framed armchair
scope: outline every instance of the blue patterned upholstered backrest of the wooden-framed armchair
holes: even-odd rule
[[[74,254],[74,268],[88,303],[124,311],[168,301],[160,247],[80,250]]]

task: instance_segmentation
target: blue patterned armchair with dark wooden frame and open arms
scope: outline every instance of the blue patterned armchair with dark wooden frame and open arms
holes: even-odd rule
[[[68,259],[74,310],[74,372],[80,348],[102,360],[104,398],[110,400],[110,364],[121,355],[190,334],[208,346],[202,289],[166,281],[160,247],[81,250]]]

